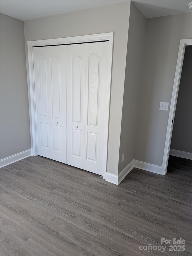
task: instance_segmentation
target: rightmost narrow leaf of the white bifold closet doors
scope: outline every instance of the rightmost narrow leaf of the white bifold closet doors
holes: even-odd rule
[[[102,175],[107,93],[108,42],[86,44],[84,170]]]

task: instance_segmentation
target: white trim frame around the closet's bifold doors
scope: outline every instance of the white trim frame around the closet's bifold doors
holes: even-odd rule
[[[110,109],[110,90],[111,90],[111,74],[112,74],[112,58],[113,58],[113,34],[114,32],[93,34],[86,36],[73,36],[65,38],[56,39],[45,39],[28,41],[28,61],[29,61],[29,88],[30,88],[30,100],[31,100],[31,135],[33,142],[33,155],[37,155],[37,130],[36,130],[36,113],[35,113],[35,84],[34,84],[34,69],[33,69],[33,47],[34,46],[46,46],[46,45],[62,45],[62,44],[74,44],[74,43],[86,43],[86,42],[99,42],[99,41],[109,41],[108,47],[108,78],[107,78],[107,109],[106,116],[106,134],[105,134],[105,148],[104,148],[104,159],[105,159],[105,170],[102,171],[103,178],[106,179],[107,172],[107,147],[108,147],[108,130],[109,130],[109,109]]]

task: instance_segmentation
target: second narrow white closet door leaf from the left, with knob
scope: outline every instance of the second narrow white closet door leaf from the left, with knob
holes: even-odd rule
[[[66,45],[49,47],[51,156],[67,162]]]

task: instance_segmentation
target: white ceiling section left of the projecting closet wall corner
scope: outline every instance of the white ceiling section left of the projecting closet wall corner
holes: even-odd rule
[[[1,13],[19,20],[33,20],[72,11],[123,2],[119,0],[1,0]]]

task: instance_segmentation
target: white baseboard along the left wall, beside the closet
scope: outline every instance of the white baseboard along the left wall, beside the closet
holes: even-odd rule
[[[32,155],[32,149],[30,148],[28,150],[22,151],[15,155],[8,156],[8,157],[0,160],[0,167],[4,167],[6,165],[12,164],[14,162],[17,162],[17,161],[24,159],[26,157],[29,157],[31,155]]]

